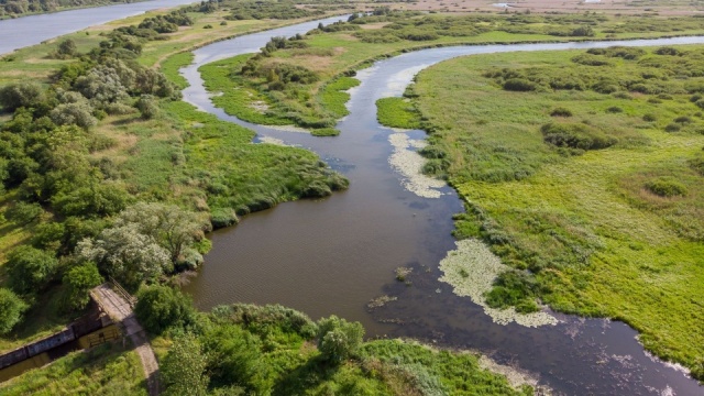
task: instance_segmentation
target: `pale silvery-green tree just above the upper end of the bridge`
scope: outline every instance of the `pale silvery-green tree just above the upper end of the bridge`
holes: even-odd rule
[[[168,251],[140,232],[136,224],[106,229],[96,240],[80,241],[76,251],[128,287],[136,288],[173,268]]]

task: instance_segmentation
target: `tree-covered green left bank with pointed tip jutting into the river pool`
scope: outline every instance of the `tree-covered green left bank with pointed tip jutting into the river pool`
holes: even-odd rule
[[[177,100],[176,70],[190,55],[167,55],[272,25],[198,31],[224,15],[152,13],[1,63],[0,75],[13,77],[0,86],[0,350],[75,318],[103,276],[132,290],[161,283],[200,265],[204,232],[238,213],[346,187],[315,154],[251,144],[252,131]],[[16,67],[33,59],[45,62],[19,79]],[[166,74],[142,66],[163,59]]]

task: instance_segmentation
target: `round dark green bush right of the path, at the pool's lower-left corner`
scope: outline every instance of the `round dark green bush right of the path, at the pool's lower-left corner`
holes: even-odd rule
[[[161,334],[170,327],[186,327],[195,321],[193,302],[168,286],[143,286],[136,294],[134,315],[146,331]]]

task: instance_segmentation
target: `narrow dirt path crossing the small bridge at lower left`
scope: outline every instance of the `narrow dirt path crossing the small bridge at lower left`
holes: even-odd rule
[[[112,290],[108,284],[102,284],[90,293],[105,309],[106,314],[122,326],[125,336],[136,346],[136,353],[140,355],[142,367],[144,369],[148,393],[151,396],[158,395],[158,363],[156,362],[156,356],[154,356],[152,345],[150,345],[150,340],[146,338],[142,326],[136,321],[130,304]]]

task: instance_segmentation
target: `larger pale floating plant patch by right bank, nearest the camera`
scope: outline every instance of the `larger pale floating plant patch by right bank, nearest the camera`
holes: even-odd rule
[[[440,280],[452,285],[454,294],[470,297],[498,324],[508,324],[513,321],[526,327],[558,323],[558,320],[547,312],[518,314],[513,307],[507,309],[488,307],[484,301],[484,294],[492,289],[492,284],[498,274],[510,267],[504,265],[484,243],[475,239],[459,241],[455,244],[458,249],[448,252],[440,262],[440,271],[443,273]]]

